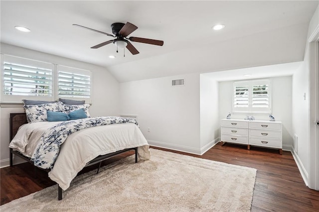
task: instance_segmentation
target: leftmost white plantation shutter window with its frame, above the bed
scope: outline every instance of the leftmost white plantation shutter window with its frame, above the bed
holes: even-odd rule
[[[8,55],[2,55],[2,61],[1,99],[3,101],[52,100],[53,64]]]

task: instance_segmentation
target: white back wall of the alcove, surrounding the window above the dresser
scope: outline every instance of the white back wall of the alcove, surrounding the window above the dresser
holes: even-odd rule
[[[290,150],[293,140],[292,130],[292,77],[274,77],[272,85],[272,113],[276,120],[283,123],[283,149]],[[232,81],[219,82],[219,120],[226,118],[231,112]],[[269,114],[232,113],[232,118],[244,119],[246,115],[254,115],[256,119],[269,120]],[[219,131],[220,133],[220,131]]]

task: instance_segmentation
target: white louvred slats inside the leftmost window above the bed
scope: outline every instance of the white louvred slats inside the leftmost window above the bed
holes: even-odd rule
[[[52,68],[47,64],[19,59],[20,62],[4,61],[3,65],[3,95],[20,96],[52,96]]]

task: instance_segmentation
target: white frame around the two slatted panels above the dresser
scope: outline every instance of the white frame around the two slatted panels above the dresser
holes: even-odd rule
[[[268,107],[253,107],[253,86],[268,85]],[[248,106],[235,107],[235,87],[248,86]],[[272,113],[272,86],[271,79],[233,81],[231,108],[233,113]]]

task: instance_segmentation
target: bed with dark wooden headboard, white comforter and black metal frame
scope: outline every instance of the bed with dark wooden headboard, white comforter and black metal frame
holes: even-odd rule
[[[44,134],[48,128],[64,123],[59,121],[28,123],[26,117],[26,113],[10,113],[10,166],[13,165],[13,155],[15,155],[47,171],[49,178],[58,184],[58,200],[62,200],[62,189],[66,190],[72,179],[86,166],[97,163],[101,165],[103,160],[130,150],[135,151],[136,163],[138,156],[141,160],[150,159],[149,145],[138,125],[125,122],[97,125],[73,132],[61,144],[54,163],[41,166],[39,160],[34,159],[36,158],[34,155],[41,146],[40,140],[45,137]],[[83,120],[90,121],[91,119],[94,118],[88,117]],[[67,122],[71,121],[65,121]],[[60,131],[59,128],[57,131]],[[47,153],[50,155],[51,152]]]

